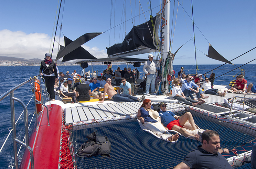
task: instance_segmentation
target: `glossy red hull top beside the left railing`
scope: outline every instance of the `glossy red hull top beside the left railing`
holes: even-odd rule
[[[39,129],[36,131],[34,126],[29,145],[33,149],[35,168],[57,169],[60,158],[62,107],[54,104],[47,107],[49,108],[50,126],[47,126],[47,112],[44,109],[38,118],[38,121],[41,119]],[[28,150],[25,150],[19,168],[31,168]]]

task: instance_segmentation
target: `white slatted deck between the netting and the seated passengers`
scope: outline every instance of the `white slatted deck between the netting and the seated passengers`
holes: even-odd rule
[[[107,101],[106,101],[107,102]],[[108,101],[110,102],[110,101]],[[154,104],[156,102],[152,102]],[[102,119],[111,119],[116,117],[136,116],[137,111],[142,105],[140,102],[111,102],[99,104],[90,102],[87,105],[69,104],[65,107],[65,124],[76,124],[83,121],[84,123],[99,121]],[[78,106],[79,105],[79,106]],[[66,104],[67,106],[67,104]],[[182,104],[167,103],[167,109],[179,109],[184,107]],[[81,123],[82,125],[83,123]]]

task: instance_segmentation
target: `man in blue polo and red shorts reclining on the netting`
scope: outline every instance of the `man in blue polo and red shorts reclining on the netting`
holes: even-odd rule
[[[161,117],[160,122],[163,124],[164,127],[168,128],[169,130],[176,130],[182,133],[185,137],[193,137],[196,140],[200,141],[201,136],[199,134],[191,134],[183,129],[183,126],[187,120],[191,124],[192,128],[195,130],[195,122],[190,112],[186,112],[183,116],[177,116],[172,112],[166,111],[167,104],[165,102],[160,103],[160,112],[159,116]]]

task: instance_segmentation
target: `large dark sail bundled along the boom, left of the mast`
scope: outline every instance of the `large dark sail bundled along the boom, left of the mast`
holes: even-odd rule
[[[108,56],[124,57],[154,52],[161,44],[158,36],[160,22],[161,15],[158,14],[152,18],[152,21],[149,20],[148,22],[134,26],[122,43],[114,44],[109,48],[106,47]]]

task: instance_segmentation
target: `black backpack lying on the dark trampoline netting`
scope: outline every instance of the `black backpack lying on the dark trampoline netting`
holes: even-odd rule
[[[107,137],[97,137],[96,133],[93,132],[87,135],[86,138],[89,140],[83,143],[76,152],[78,157],[109,156],[111,144]]]

